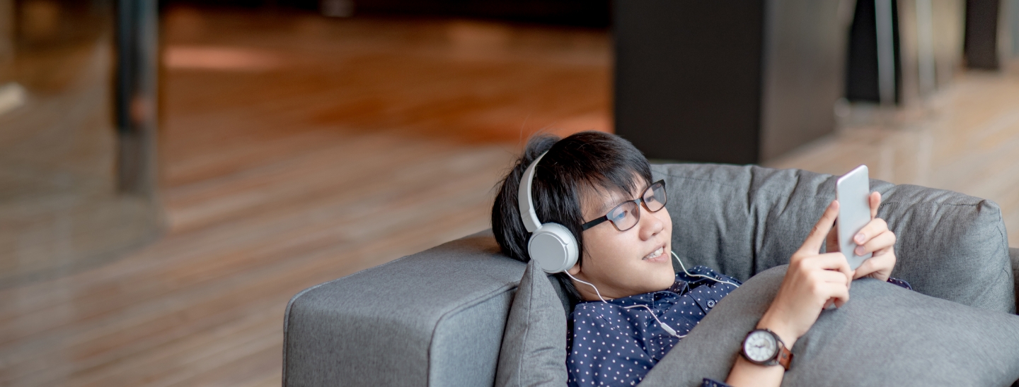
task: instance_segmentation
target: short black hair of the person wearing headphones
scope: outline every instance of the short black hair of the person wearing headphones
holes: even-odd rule
[[[581,202],[585,194],[615,192],[629,196],[651,182],[651,166],[630,141],[614,134],[586,131],[559,139],[550,134],[532,136],[523,154],[498,185],[492,205],[492,232],[502,254],[528,262],[527,242],[531,234],[524,228],[517,204],[517,190],[524,171],[542,153],[548,152],[534,171],[531,195],[535,212],[543,222],[562,224],[577,239],[583,265],[584,239]],[[566,273],[556,274],[575,300],[583,300]]]

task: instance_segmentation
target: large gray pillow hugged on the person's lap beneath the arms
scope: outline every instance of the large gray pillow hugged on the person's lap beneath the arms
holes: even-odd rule
[[[725,380],[786,268],[766,270],[722,299],[641,386]],[[1019,316],[865,278],[792,350],[783,386],[1008,386],[1019,379]]]

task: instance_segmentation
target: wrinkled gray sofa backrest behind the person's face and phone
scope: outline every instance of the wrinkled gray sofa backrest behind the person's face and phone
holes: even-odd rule
[[[835,199],[837,177],[755,166],[652,166],[665,179],[673,249],[688,265],[746,280],[788,262]],[[1014,313],[1015,282],[998,204],[957,192],[871,180],[896,233],[893,275],[917,292]]]

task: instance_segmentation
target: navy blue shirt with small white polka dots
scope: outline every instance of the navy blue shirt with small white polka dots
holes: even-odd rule
[[[690,273],[742,284],[705,266],[693,267]],[[910,288],[900,279],[889,282]],[[567,343],[570,386],[637,385],[680,342],[681,337],[668,333],[654,317],[684,336],[735,288],[679,272],[666,291],[578,304],[571,314],[573,329]],[[728,385],[704,379],[702,387],[713,386]]]

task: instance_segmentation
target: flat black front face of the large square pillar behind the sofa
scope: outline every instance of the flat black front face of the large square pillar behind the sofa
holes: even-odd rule
[[[763,5],[614,2],[615,132],[651,158],[757,163]]]

